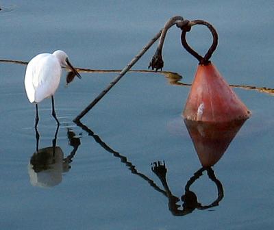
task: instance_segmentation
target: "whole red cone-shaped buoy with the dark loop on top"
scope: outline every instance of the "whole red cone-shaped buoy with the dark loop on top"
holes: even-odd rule
[[[206,25],[212,32],[213,42],[204,57],[194,51],[186,42],[186,32],[193,25]],[[184,21],[181,25],[181,41],[184,48],[199,60],[197,72],[184,107],[183,116],[187,120],[205,122],[229,122],[246,120],[250,112],[229,87],[210,57],[218,44],[218,34],[214,27],[202,20]]]

